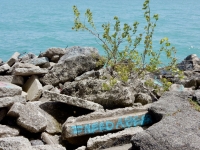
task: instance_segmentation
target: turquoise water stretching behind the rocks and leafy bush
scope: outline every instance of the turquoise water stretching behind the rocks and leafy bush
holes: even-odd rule
[[[115,15],[122,23],[140,22],[142,30],[142,4],[143,0],[1,0],[0,58],[6,61],[15,51],[39,54],[49,47],[75,45],[93,46],[104,54],[92,35],[71,30],[72,6],[82,13],[90,8],[101,33],[101,24],[112,23]],[[200,56],[200,0],[151,0],[150,5],[152,14],[159,14],[154,48],[168,37],[179,60],[192,53]]]

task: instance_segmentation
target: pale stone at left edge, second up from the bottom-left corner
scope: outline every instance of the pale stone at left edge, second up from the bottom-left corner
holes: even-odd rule
[[[9,127],[6,125],[0,125],[0,138],[11,137],[19,135],[19,129]]]

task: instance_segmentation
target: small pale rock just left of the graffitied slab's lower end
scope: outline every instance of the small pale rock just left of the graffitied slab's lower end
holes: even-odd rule
[[[58,135],[50,135],[46,132],[43,132],[41,135],[41,139],[46,143],[46,144],[59,144],[60,136]]]

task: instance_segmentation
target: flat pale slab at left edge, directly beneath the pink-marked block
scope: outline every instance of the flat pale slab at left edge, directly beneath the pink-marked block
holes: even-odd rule
[[[16,95],[13,97],[2,97],[2,98],[0,98],[0,108],[10,107],[15,102],[26,103],[26,99],[21,95]]]

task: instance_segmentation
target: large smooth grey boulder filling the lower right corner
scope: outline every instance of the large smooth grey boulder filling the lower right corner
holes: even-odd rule
[[[132,149],[197,150],[200,147],[200,113],[188,101],[187,92],[166,92],[149,111],[159,121],[132,137]]]

